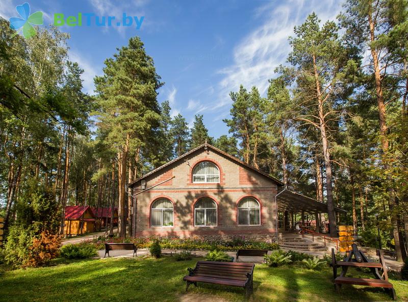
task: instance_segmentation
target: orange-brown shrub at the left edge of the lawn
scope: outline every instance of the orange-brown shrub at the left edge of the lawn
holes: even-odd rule
[[[29,248],[28,261],[23,266],[37,267],[48,264],[59,255],[60,246],[60,235],[42,232],[39,238],[33,239],[33,244]]]

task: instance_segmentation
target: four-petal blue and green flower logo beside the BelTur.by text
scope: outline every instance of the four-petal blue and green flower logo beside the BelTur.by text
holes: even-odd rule
[[[17,31],[14,35],[20,33],[22,29],[24,38],[28,39],[34,36],[36,31],[31,24],[42,25],[44,23],[42,12],[35,12],[30,15],[30,5],[28,3],[17,5],[16,10],[21,18],[12,17],[9,19],[10,28]]]

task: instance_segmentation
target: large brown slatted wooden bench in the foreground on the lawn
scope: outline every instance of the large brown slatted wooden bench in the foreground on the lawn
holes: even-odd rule
[[[190,284],[197,286],[197,282],[203,282],[242,287],[249,296],[253,291],[254,267],[253,263],[198,261],[194,269],[187,269],[189,274],[183,281],[187,282],[186,291]]]

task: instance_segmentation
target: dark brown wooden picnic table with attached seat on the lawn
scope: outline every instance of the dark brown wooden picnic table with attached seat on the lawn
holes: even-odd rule
[[[387,267],[384,261],[382,250],[379,250],[379,263],[370,262],[364,255],[363,251],[359,250],[357,245],[353,243],[352,249],[348,252],[348,256],[344,261],[337,261],[334,248],[331,249],[331,266],[333,266],[333,278],[337,291],[340,291],[342,284],[366,285],[372,287],[382,287],[389,292],[395,300],[397,298],[393,285],[388,281]],[[341,267],[341,273],[337,276],[337,268]],[[374,275],[374,279],[346,277],[349,267],[367,267]],[[380,274],[382,270],[382,274]]]

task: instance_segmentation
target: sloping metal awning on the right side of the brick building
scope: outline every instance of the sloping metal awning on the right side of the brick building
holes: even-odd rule
[[[279,212],[288,210],[289,212],[309,212],[309,213],[327,213],[327,204],[319,202],[319,200],[311,197],[290,191],[288,189],[281,190],[276,195],[277,208]],[[335,207],[336,212],[347,213],[346,210]]]

